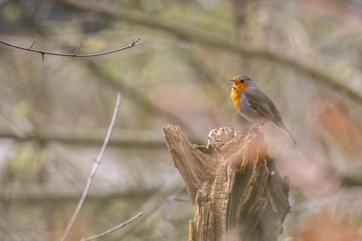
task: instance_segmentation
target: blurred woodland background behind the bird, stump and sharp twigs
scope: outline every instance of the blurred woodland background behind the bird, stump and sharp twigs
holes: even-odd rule
[[[230,99],[249,76],[299,144],[262,133],[291,181],[279,240],[362,240],[362,4],[358,0],[0,0],[0,240],[59,240],[113,113],[110,143],[67,240],[187,240],[193,207],[164,140],[180,125],[253,125]],[[186,202],[182,202],[186,200]]]

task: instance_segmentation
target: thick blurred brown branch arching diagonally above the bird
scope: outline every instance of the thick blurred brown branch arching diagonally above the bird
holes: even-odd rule
[[[338,78],[331,76],[324,70],[315,68],[314,66],[301,63],[298,59],[292,56],[282,55],[280,52],[275,53],[262,48],[255,48],[245,44],[235,44],[230,41],[224,33],[215,34],[202,31],[195,27],[182,27],[173,24],[172,22],[160,18],[155,18],[146,13],[125,11],[120,8],[104,7],[95,1],[71,1],[71,0],[56,0],[57,3],[72,7],[79,11],[92,11],[101,16],[114,19],[122,19],[132,23],[138,23],[153,27],[156,29],[167,31],[170,34],[176,35],[181,39],[192,41],[199,44],[206,44],[211,47],[221,48],[237,52],[243,56],[256,57],[261,59],[273,60],[276,63],[289,66],[303,75],[312,76],[316,81],[331,86],[337,92],[345,92],[351,99],[362,103],[362,96],[344,85]]]

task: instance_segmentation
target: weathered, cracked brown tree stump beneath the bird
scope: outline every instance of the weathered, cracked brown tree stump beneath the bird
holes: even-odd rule
[[[290,212],[289,176],[279,175],[262,133],[222,127],[198,146],[179,126],[163,130],[195,209],[189,241],[278,240]]]

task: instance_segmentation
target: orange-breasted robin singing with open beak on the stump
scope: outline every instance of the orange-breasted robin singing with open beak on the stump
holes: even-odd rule
[[[273,101],[249,77],[238,75],[229,80],[233,82],[229,89],[231,89],[231,99],[237,112],[248,121],[259,123],[253,126],[249,132],[255,129],[260,130],[266,122],[272,121],[279,128],[285,130],[298,147]]]

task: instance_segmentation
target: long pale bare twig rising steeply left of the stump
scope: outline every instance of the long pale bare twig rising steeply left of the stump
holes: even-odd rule
[[[94,163],[94,165],[93,165],[92,172],[90,172],[90,175],[89,175],[89,177],[88,177],[87,184],[85,185],[85,188],[84,188],[82,197],[81,197],[80,200],[79,200],[78,206],[77,206],[77,208],[75,209],[74,214],[73,214],[73,216],[72,216],[72,219],[70,220],[70,222],[69,222],[69,224],[68,224],[68,227],[67,227],[66,231],[64,232],[63,237],[62,237],[62,239],[61,239],[60,241],[63,241],[63,240],[67,237],[67,235],[68,235],[68,233],[69,233],[69,231],[70,231],[70,229],[71,229],[71,227],[72,227],[72,225],[73,225],[73,223],[74,223],[74,220],[75,220],[75,218],[76,218],[76,216],[77,216],[77,214],[78,214],[78,212],[79,212],[79,210],[80,210],[80,207],[82,206],[82,204],[83,204],[83,202],[84,202],[85,196],[86,196],[87,193],[88,193],[90,183],[92,182],[93,176],[94,176],[94,174],[95,174],[96,171],[97,171],[98,165],[99,165],[100,162],[101,162],[101,158],[102,158],[103,152],[104,152],[104,150],[105,150],[105,148],[106,148],[106,146],[107,146],[107,143],[108,143],[108,140],[109,140],[109,137],[110,137],[110,134],[111,134],[111,130],[112,130],[112,128],[113,128],[114,120],[115,120],[115,117],[117,116],[117,111],[118,111],[118,106],[119,106],[120,100],[121,100],[121,93],[118,92],[118,93],[117,93],[117,101],[116,101],[116,104],[115,104],[115,107],[114,107],[113,116],[112,116],[111,122],[110,122],[110,124],[109,124],[108,132],[107,132],[106,137],[105,137],[105,139],[104,139],[104,143],[103,143],[103,145],[102,145],[101,151],[99,152],[99,155],[98,155],[98,157],[97,157],[96,163]]]

